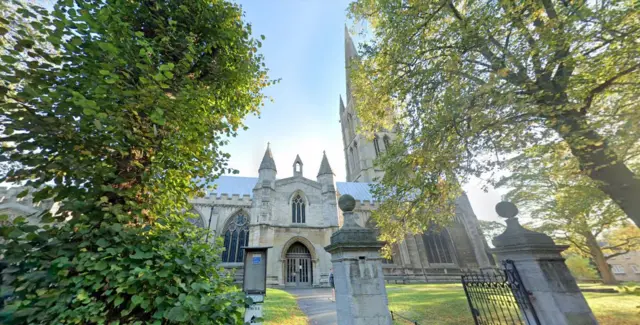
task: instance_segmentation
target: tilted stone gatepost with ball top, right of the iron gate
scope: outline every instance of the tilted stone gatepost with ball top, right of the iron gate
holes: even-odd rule
[[[568,246],[556,245],[551,237],[523,228],[515,218],[518,208],[513,203],[498,203],[496,212],[507,219],[507,229],[493,239],[493,253],[501,261],[514,261],[531,293],[540,325],[598,324],[560,255]]]

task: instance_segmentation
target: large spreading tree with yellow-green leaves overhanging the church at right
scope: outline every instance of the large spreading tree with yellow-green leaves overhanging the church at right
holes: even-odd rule
[[[378,214],[395,216],[383,233],[450,215],[468,177],[557,142],[640,225],[640,179],[621,159],[637,157],[640,135],[630,2],[356,0],[349,11],[370,39],[350,63],[360,132],[399,135],[379,161]]]

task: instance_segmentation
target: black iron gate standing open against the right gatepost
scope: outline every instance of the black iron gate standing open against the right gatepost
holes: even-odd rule
[[[495,272],[465,273],[462,286],[476,325],[540,325],[512,260]]]

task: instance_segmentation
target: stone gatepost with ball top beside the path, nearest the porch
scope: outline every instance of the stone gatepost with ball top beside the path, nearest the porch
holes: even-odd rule
[[[338,325],[391,325],[379,253],[384,243],[358,225],[351,195],[340,196],[338,206],[344,224],[325,247],[333,263]]]

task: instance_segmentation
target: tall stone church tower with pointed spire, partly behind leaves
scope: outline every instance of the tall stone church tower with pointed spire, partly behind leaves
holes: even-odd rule
[[[358,59],[356,47],[344,28],[345,69],[347,79],[346,105],[340,97],[340,124],[347,170],[347,182],[372,183],[382,178],[384,172],[374,166],[378,158],[394,139],[392,132],[378,132],[373,140],[358,134],[360,119],[355,111],[354,98],[349,78],[349,63]]]

